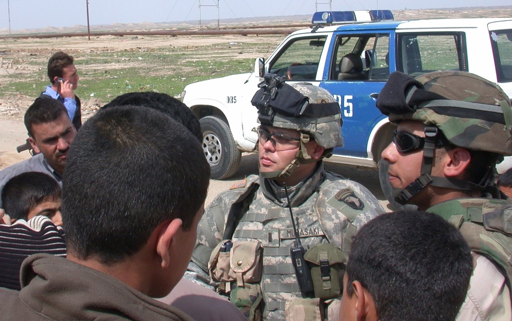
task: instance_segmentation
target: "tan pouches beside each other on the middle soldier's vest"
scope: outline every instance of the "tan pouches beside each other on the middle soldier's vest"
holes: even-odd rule
[[[221,252],[219,243],[211,252],[208,271],[216,282],[237,282],[243,287],[245,282],[258,283],[261,280],[262,252],[261,242],[234,241],[229,252]],[[229,291],[226,291],[229,292]]]

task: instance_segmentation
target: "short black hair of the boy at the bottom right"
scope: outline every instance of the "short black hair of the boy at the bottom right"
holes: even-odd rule
[[[358,280],[381,320],[455,320],[473,270],[459,231],[422,211],[382,214],[354,236],[347,293]]]

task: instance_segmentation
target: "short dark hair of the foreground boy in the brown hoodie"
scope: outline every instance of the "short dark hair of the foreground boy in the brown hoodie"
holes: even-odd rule
[[[101,109],[80,129],[63,175],[68,250],[105,265],[137,253],[155,228],[180,218],[191,228],[210,167],[194,136],[162,112]]]

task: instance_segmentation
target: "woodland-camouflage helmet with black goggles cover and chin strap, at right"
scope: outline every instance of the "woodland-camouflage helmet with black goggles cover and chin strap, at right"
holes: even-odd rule
[[[421,175],[395,199],[405,204],[428,184],[459,190],[494,184],[496,163],[512,155],[510,100],[496,84],[463,71],[436,71],[413,78],[393,72],[377,98],[390,122],[409,119],[425,124]],[[489,166],[478,183],[430,176],[435,146],[488,152]]]

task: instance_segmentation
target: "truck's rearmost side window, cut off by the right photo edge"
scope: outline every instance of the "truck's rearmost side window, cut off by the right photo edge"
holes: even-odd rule
[[[512,30],[490,31],[498,83],[512,82]]]

